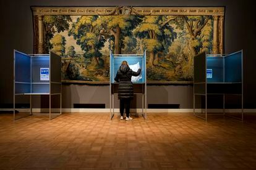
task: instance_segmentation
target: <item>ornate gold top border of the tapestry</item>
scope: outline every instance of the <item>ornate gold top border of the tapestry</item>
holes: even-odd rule
[[[32,7],[33,15],[215,15],[224,7]]]

